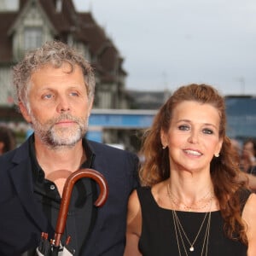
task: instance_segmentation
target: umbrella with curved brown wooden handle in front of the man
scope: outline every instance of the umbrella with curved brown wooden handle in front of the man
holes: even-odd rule
[[[64,171],[64,170],[63,170]],[[90,177],[98,183],[100,187],[100,195],[98,196],[94,205],[96,207],[102,207],[102,205],[107,201],[108,198],[108,183],[106,179],[102,176],[100,172],[96,170],[84,168],[79,169],[76,172],[73,172],[69,177],[63,188],[62,198],[61,198],[61,207],[57,219],[57,224],[55,227],[55,237],[49,239],[47,233],[42,233],[41,241],[37,248],[37,253],[39,256],[48,255],[48,256],[71,256],[73,255],[73,249],[68,247],[68,242],[71,237],[67,237],[67,241],[64,245],[61,245],[61,235],[64,233],[66,221],[67,221],[67,212],[70,197],[73,190],[73,185],[82,177]]]

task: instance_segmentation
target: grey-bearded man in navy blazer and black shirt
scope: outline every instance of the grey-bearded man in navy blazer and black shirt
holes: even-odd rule
[[[106,178],[108,200],[93,207],[97,185],[75,183],[65,233],[75,255],[121,256],[126,204],[137,186],[137,156],[84,139],[95,78],[84,58],[61,42],[29,52],[14,67],[17,104],[34,133],[0,158],[0,255],[32,255],[41,232],[54,236],[68,173],[91,168]]]

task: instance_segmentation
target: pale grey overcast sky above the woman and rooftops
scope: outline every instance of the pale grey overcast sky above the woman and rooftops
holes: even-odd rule
[[[255,0],[74,0],[125,59],[130,90],[212,84],[256,96]]]

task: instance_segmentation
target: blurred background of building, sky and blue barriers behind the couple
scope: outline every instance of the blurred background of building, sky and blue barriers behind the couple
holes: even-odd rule
[[[32,132],[15,109],[11,67],[59,39],[96,70],[87,137],[137,152],[143,131],[182,84],[224,96],[228,135],[256,137],[256,3],[246,1],[0,0],[0,125]]]

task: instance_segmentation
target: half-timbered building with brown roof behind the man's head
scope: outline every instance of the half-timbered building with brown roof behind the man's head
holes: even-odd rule
[[[119,50],[90,12],[72,0],[0,1],[0,106],[13,104],[11,67],[26,50],[58,39],[78,49],[96,70],[94,108],[128,108],[126,73]]]

